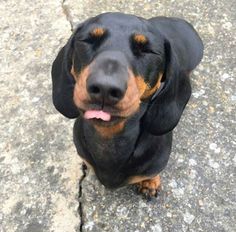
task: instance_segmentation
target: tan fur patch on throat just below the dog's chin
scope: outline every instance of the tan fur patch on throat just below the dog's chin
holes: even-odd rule
[[[125,127],[125,120],[117,123],[113,126],[109,126],[109,127],[102,127],[102,126],[94,126],[96,131],[103,137],[103,138],[107,138],[110,139],[112,138],[115,134],[121,132],[124,127]]]

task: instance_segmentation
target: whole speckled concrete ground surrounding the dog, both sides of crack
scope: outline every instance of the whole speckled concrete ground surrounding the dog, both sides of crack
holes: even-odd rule
[[[0,37],[0,231],[235,231],[236,15],[233,1],[3,1]],[[205,44],[175,129],[163,190],[80,183],[73,120],[51,103],[50,66],[71,26],[105,11],[182,17]],[[81,221],[82,221],[82,227]]]

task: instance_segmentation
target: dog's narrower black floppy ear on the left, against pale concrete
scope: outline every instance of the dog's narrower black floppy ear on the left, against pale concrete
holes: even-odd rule
[[[68,118],[79,116],[79,111],[73,102],[75,80],[70,73],[75,33],[58,53],[53,62],[51,73],[53,104],[61,114]]]

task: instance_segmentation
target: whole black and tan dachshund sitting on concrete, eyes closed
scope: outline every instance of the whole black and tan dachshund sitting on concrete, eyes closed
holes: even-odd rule
[[[77,118],[75,146],[102,184],[156,195],[202,56],[182,19],[105,13],[78,25],[53,63],[53,103]]]

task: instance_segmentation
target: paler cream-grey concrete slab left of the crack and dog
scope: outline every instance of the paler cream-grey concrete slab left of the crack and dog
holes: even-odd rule
[[[70,24],[60,1],[1,1],[0,12],[0,231],[75,231],[80,160],[50,77]]]

